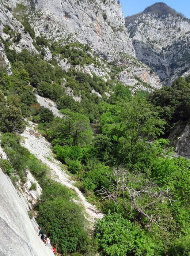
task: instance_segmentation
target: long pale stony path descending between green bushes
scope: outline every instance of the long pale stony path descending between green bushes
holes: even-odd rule
[[[80,203],[84,206],[89,221],[94,222],[95,218],[102,218],[103,214],[100,213],[95,206],[86,201],[80,190],[73,185],[75,181],[69,180],[70,177],[61,169],[60,162],[54,159],[51,144],[34,130],[34,123],[29,122],[29,124],[31,127],[27,126],[25,131],[21,134],[23,137],[23,142],[21,145],[26,147],[32,154],[35,155],[35,157],[40,159],[51,169],[50,176],[54,180],[76,191],[80,201],[74,200],[74,202]]]

